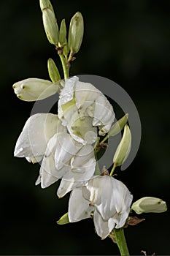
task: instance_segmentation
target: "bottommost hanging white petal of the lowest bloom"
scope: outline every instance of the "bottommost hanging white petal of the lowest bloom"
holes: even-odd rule
[[[109,222],[104,221],[104,219],[102,219],[101,215],[98,213],[98,211],[96,211],[96,209],[94,211],[93,220],[94,220],[96,233],[102,239],[109,236],[109,233],[112,231],[113,227],[115,226],[115,222],[113,222],[112,220],[109,220]]]

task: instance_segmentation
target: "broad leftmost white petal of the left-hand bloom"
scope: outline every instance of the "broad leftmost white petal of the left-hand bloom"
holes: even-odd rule
[[[45,154],[48,140],[57,131],[58,116],[37,113],[26,121],[15,146],[15,157],[27,157],[38,162]]]

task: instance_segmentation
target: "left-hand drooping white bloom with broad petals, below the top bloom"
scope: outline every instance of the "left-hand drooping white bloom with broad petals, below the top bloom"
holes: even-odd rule
[[[78,143],[66,132],[57,115],[39,113],[28,118],[15,146],[15,157],[42,165],[36,184],[48,187],[62,178],[58,196],[85,184],[96,167],[93,146]]]

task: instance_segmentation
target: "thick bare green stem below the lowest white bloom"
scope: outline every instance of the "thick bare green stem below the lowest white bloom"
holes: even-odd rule
[[[120,250],[120,255],[121,256],[129,256],[128,252],[128,246],[125,241],[125,234],[124,234],[124,229],[123,227],[116,229],[114,228],[114,233],[115,233],[115,239],[117,246],[119,247]]]

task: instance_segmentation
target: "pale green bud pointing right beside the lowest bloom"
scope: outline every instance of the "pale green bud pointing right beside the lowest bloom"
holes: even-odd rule
[[[142,213],[161,213],[167,210],[166,202],[160,198],[156,197],[142,197],[133,203],[131,209],[136,212],[136,214]]]

